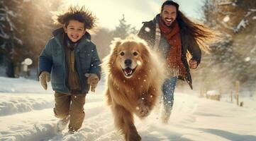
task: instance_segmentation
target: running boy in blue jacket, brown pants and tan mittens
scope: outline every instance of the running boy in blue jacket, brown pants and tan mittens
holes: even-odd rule
[[[55,91],[55,116],[60,118],[57,130],[69,122],[69,133],[79,130],[84,121],[85,96],[95,87],[101,76],[101,63],[95,44],[87,29],[94,27],[96,18],[84,7],[69,7],[57,16],[63,27],[52,32],[39,57],[40,84],[47,90],[47,82]]]

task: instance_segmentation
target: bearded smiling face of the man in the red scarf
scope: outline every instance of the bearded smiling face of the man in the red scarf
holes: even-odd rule
[[[164,8],[162,9],[162,12],[160,13],[160,16],[165,25],[172,25],[173,21],[177,17],[176,7],[172,5],[165,5]]]

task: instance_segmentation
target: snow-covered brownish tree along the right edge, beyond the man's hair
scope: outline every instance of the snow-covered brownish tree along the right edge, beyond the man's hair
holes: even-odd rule
[[[205,23],[223,34],[223,40],[213,44],[206,57],[209,61],[204,62],[208,67],[204,73],[218,66],[217,80],[239,80],[245,88],[255,87],[256,1],[206,0],[203,9]]]

